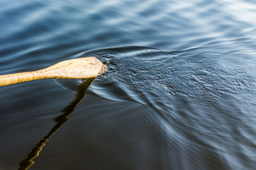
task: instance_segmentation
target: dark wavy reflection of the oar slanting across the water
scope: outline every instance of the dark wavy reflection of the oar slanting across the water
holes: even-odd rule
[[[46,142],[50,140],[50,137],[54,135],[54,133],[57,132],[57,130],[61,128],[61,126],[69,120],[68,115],[75,111],[75,107],[78,106],[78,103],[80,103],[82,98],[85,96],[85,92],[89,88],[90,84],[92,84],[92,81],[94,81],[94,78],[82,80],[82,83],[78,86],[78,92],[75,95],[75,99],[68,106],[63,108],[63,110],[61,111],[63,113],[62,115],[59,115],[58,117],[54,118],[56,124],[50,130],[48,135],[43,137],[43,140],[38,142],[36,147],[32,149],[32,151],[28,154],[28,157],[19,164],[19,170],[29,169],[35,163],[33,159],[38,157],[39,153],[46,145]]]

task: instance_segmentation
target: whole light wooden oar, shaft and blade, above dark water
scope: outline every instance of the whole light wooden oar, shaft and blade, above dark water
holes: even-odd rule
[[[96,57],[83,57],[58,62],[46,69],[0,75],[0,86],[18,84],[36,79],[87,79],[107,71],[107,66]]]

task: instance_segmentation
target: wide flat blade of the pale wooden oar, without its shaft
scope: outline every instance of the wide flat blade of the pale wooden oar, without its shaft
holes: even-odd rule
[[[40,71],[44,72],[45,79],[87,79],[107,71],[107,66],[96,57],[83,57],[65,60]]]

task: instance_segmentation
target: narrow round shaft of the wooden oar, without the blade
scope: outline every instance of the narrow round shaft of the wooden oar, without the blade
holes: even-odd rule
[[[26,81],[45,79],[43,72],[21,72],[15,74],[0,75],[0,86],[7,86],[11,84],[18,84]]]

